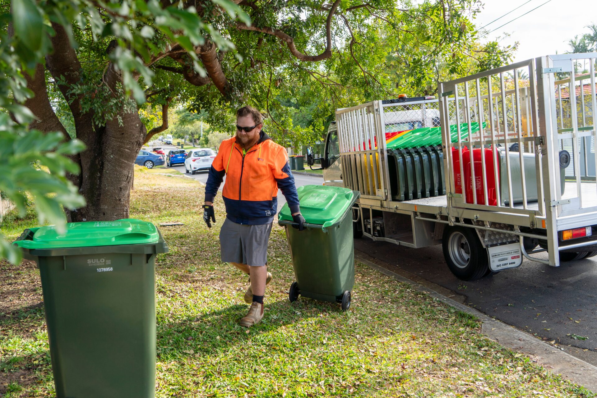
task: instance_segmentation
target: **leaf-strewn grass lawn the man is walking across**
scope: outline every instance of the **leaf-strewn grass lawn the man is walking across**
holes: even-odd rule
[[[473,317],[356,264],[348,313],[288,301],[293,270],[284,230],[269,246],[274,277],[259,325],[238,325],[247,277],[219,260],[224,219],[198,211],[203,189],[181,176],[136,169],[131,217],[162,227],[157,258],[158,397],[594,397],[529,357],[480,334]],[[35,221],[8,217],[14,239]],[[10,224],[10,225],[8,225]],[[35,264],[0,261],[0,396],[53,396],[41,283]]]

